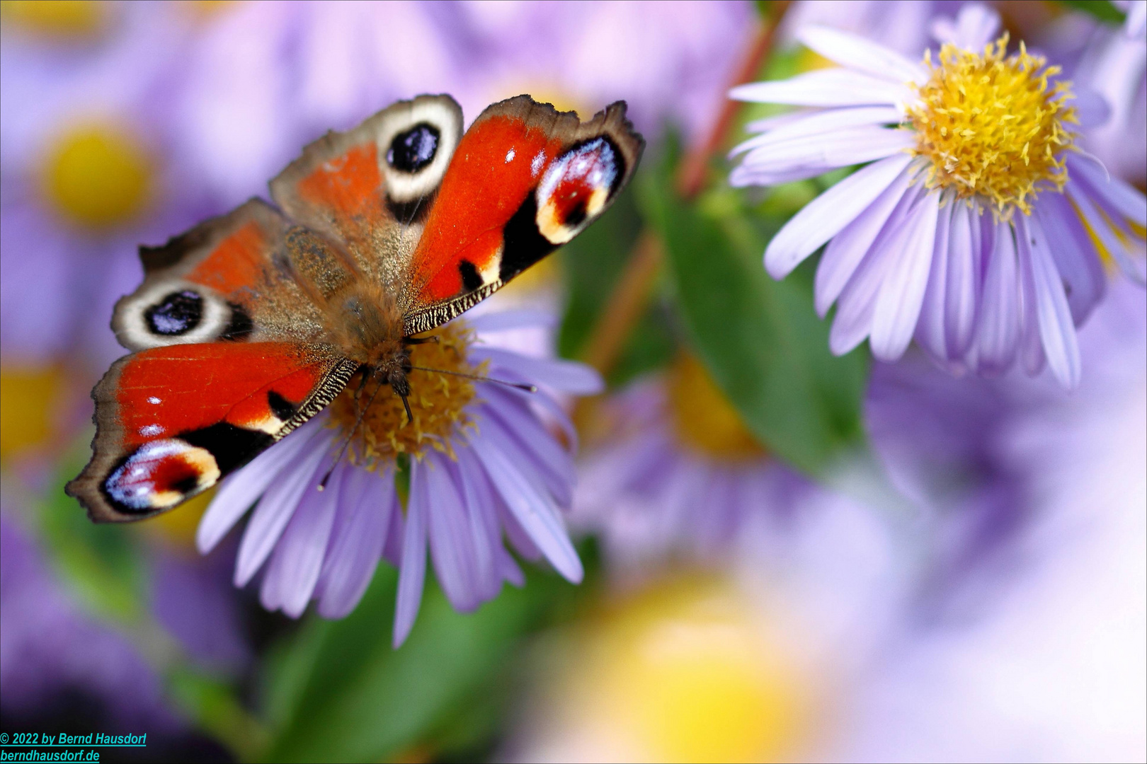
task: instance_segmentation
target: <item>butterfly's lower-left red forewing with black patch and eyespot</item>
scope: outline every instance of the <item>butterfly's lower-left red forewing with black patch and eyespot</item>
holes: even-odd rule
[[[206,490],[310,419],[353,362],[290,342],[155,347],[92,391],[93,457],[68,485],[93,520],[139,520]]]

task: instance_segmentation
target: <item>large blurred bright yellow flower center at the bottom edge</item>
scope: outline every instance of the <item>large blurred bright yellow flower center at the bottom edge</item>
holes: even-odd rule
[[[621,747],[599,755],[767,762],[804,742],[811,677],[724,582],[660,583],[588,620],[587,636],[568,695],[583,738]]]

